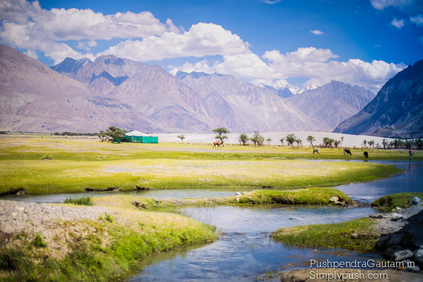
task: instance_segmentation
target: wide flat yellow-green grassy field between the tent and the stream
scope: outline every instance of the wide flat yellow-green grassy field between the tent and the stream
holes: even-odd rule
[[[295,158],[360,159],[353,151],[159,143],[107,143],[85,138],[2,137],[0,194],[207,186],[305,188],[371,181],[400,172],[369,162],[310,162]],[[41,160],[46,153],[52,160]],[[358,154],[358,153],[357,153]],[[400,153],[382,151],[381,159]],[[376,152],[374,154],[376,156]]]

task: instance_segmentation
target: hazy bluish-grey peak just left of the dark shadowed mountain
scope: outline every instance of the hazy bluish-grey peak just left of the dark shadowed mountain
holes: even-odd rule
[[[306,115],[334,128],[363,109],[374,96],[363,87],[332,80],[316,89],[291,96],[288,100]]]

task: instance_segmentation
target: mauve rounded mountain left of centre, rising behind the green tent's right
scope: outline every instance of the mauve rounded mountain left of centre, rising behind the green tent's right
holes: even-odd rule
[[[216,115],[195,91],[157,65],[146,66],[107,96],[176,131],[209,132],[218,126]]]

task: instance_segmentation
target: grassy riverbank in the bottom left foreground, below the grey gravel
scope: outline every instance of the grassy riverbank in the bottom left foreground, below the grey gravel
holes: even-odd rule
[[[45,226],[49,236],[44,237],[31,229],[2,233],[0,280],[115,281],[154,252],[217,238],[214,227],[184,216],[126,211],[119,223],[113,214],[97,220],[51,222]]]

